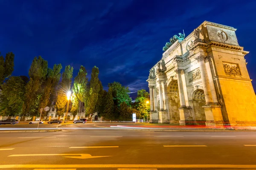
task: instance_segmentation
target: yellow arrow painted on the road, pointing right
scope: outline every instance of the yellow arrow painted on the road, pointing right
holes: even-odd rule
[[[80,155],[80,156],[78,156]],[[9,155],[8,157],[15,157],[15,156],[63,156],[64,158],[77,158],[77,159],[89,159],[89,158],[102,158],[102,157],[109,157],[109,156],[91,156],[90,154],[84,153],[61,153],[61,154],[17,154],[17,155]]]

